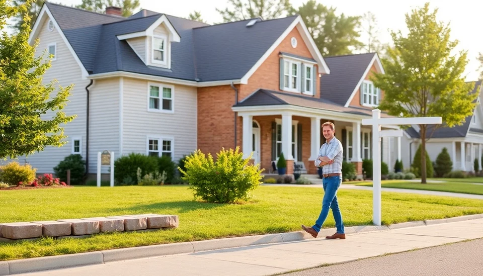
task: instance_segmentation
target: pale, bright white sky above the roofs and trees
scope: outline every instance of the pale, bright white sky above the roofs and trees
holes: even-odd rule
[[[299,7],[307,0],[290,0],[294,7]],[[371,12],[377,19],[378,38],[382,43],[390,43],[391,37],[388,30],[401,30],[407,33],[405,14],[411,13],[412,9],[423,7],[429,0],[316,0],[317,3],[337,8],[336,13],[344,13],[347,16],[362,16]],[[77,5],[82,0],[54,0],[53,3],[71,6]],[[479,62],[476,60],[478,52],[483,53],[483,34],[481,26],[481,11],[483,1],[475,0],[432,0],[430,10],[438,8],[437,20],[450,23],[451,39],[458,40],[459,44],[453,54],[461,50],[468,51],[469,60],[464,72],[467,81],[476,80],[478,77]],[[215,10],[228,7],[226,0],[140,0],[140,8],[165,13],[172,16],[188,17],[193,11],[201,13],[203,20],[209,24],[220,23],[222,18]],[[362,39],[362,37],[361,37]]]

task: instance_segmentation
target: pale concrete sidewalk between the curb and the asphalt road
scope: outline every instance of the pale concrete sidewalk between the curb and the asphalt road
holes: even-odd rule
[[[366,229],[364,229],[366,228]],[[483,218],[460,222],[378,231],[358,227],[345,240],[327,240],[334,229],[317,239],[236,247],[145,259],[107,262],[83,267],[17,275],[271,275],[321,264],[341,263],[483,238]],[[364,232],[371,229],[373,232]]]

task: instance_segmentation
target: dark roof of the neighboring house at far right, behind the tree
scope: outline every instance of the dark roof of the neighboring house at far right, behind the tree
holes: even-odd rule
[[[478,88],[481,86],[481,80],[475,81],[475,85],[473,90],[470,92],[471,94],[473,93],[478,93],[479,90]],[[436,130],[434,130],[433,135],[431,136],[432,138],[456,138],[456,137],[466,137],[466,133],[468,133],[468,128],[471,123],[471,116],[466,117],[464,123],[460,126],[454,126],[452,128],[449,127],[440,127]],[[432,127],[428,127],[426,130],[426,135],[430,135],[431,132],[433,131]],[[477,133],[482,133],[483,130],[480,129],[474,129],[471,128],[469,131],[472,132],[477,132]],[[413,127],[409,127],[406,129],[406,132],[412,137],[412,138],[420,138],[419,131],[416,131]]]

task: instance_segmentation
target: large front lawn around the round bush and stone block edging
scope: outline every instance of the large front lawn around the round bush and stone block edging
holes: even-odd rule
[[[249,203],[228,205],[194,201],[186,186],[0,191],[2,223],[145,213],[180,216],[180,227],[170,231],[0,243],[0,260],[299,231],[301,224],[312,225],[317,218],[323,190],[262,186],[253,195]],[[346,226],[372,224],[371,191],[341,190],[338,196]],[[483,213],[483,201],[383,193],[382,211],[387,225]],[[332,213],[324,227],[334,227]]]

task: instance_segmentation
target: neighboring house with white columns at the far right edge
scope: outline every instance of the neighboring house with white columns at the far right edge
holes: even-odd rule
[[[433,135],[426,142],[426,151],[435,162],[436,157],[444,147],[448,150],[453,162],[453,170],[473,171],[474,159],[478,159],[479,170],[481,170],[481,154],[483,151],[483,107],[481,106],[483,85],[481,80],[475,82],[471,93],[477,93],[476,108],[471,116],[468,116],[462,125],[440,127],[434,130]],[[413,162],[416,150],[421,143],[417,125],[406,129],[406,136],[403,138],[403,164],[408,168]],[[432,130],[427,130],[427,137]],[[461,161],[463,160],[463,161]]]

